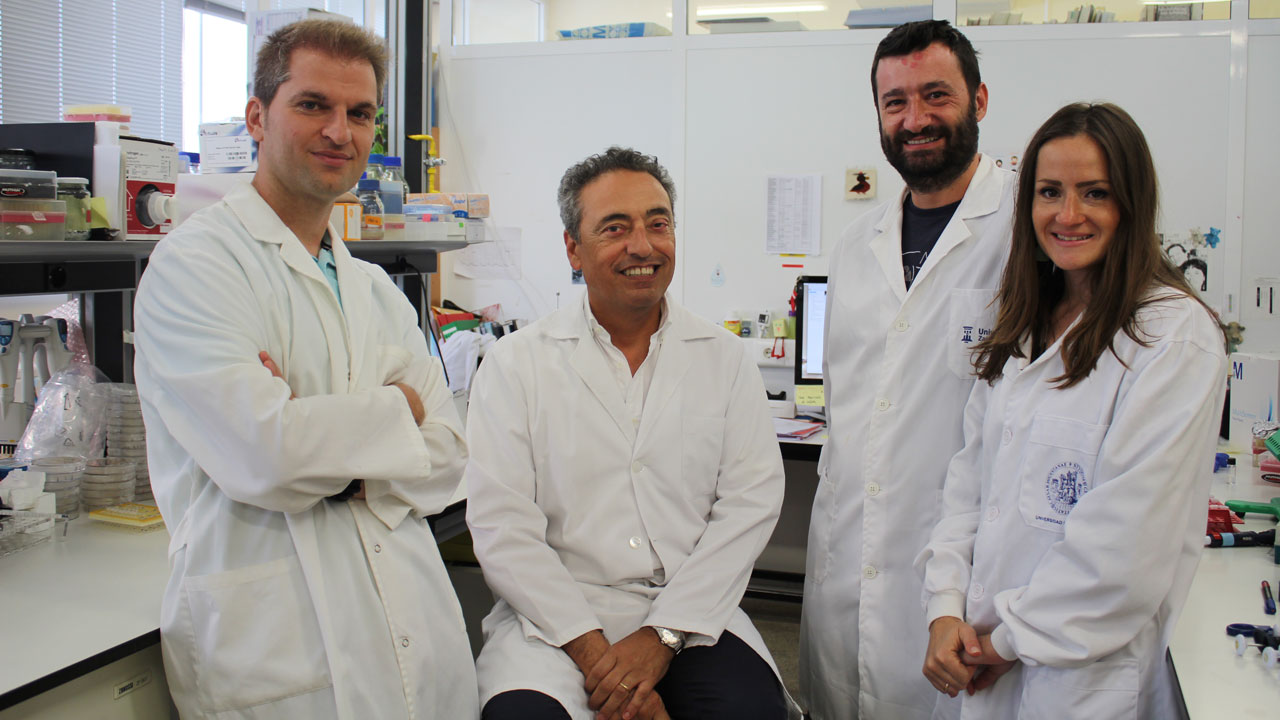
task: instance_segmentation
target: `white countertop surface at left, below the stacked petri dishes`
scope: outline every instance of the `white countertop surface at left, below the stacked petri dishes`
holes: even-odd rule
[[[84,514],[69,530],[0,557],[0,694],[160,626],[169,533],[108,528]]]

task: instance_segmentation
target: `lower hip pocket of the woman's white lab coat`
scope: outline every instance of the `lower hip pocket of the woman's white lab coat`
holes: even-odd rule
[[[1019,720],[1133,720],[1138,717],[1138,661],[1084,667],[1023,667]]]

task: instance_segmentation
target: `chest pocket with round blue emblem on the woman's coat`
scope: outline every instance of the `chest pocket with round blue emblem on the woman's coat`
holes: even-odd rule
[[[1018,507],[1033,528],[1061,533],[1075,503],[1097,478],[1107,425],[1037,415],[1018,478]]]

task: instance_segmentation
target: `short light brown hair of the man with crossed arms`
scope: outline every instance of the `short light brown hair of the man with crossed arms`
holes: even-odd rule
[[[289,60],[300,47],[344,60],[367,60],[374,67],[378,101],[387,83],[387,44],[376,35],[344,20],[301,20],[273,32],[257,51],[253,95],[270,106],[275,92],[289,79]]]

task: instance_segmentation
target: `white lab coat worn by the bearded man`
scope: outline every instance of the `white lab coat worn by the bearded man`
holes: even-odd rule
[[[902,196],[831,260],[827,418],[809,523],[801,703],[814,720],[928,717],[920,579],[947,461],[963,445],[969,348],[995,320],[1012,173],[983,156],[919,277],[902,279]]]

